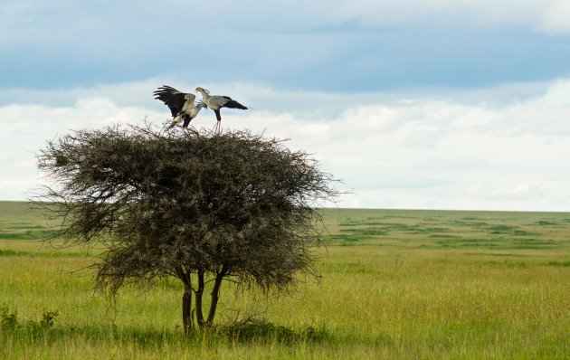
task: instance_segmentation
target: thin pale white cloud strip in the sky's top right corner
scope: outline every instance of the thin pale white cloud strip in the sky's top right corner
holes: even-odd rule
[[[568,0],[350,0],[338,3],[332,6],[338,21],[352,18],[368,26],[518,27],[570,33]]]

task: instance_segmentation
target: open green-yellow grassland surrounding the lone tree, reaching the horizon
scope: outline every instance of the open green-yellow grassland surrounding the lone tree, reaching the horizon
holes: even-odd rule
[[[321,279],[280,298],[226,284],[218,327],[185,336],[175,279],[110,304],[100,248],[53,249],[39,211],[0,203],[0,358],[570,358],[570,213],[323,213]]]

